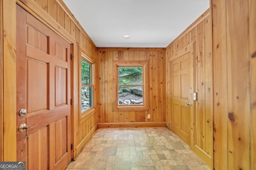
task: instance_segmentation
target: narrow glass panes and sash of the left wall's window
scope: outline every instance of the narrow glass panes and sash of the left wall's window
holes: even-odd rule
[[[81,111],[93,107],[92,64],[81,59]]]

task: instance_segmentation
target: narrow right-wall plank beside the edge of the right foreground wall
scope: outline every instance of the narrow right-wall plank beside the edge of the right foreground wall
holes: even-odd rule
[[[213,89],[212,89],[212,19],[208,16],[205,25],[205,152],[212,156],[212,116],[213,116]]]

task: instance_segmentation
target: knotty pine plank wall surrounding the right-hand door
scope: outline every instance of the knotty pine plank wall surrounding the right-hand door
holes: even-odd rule
[[[168,61],[176,57],[181,49],[194,43],[194,85],[198,100],[194,112],[194,146],[192,150],[209,166],[212,164],[212,21],[210,9],[200,16],[168,47],[166,47],[167,67],[167,124],[170,127],[170,68]]]

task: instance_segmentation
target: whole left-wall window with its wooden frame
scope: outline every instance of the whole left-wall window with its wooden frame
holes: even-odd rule
[[[96,112],[95,109],[95,77],[94,63],[90,57],[86,56],[80,47],[80,57],[78,59],[78,89],[79,89],[79,122],[82,123],[91,114]]]

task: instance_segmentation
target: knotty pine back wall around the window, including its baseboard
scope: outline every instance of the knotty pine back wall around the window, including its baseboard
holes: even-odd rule
[[[98,127],[154,127],[166,125],[165,60],[164,49],[145,48],[98,48]],[[148,111],[113,111],[112,62],[149,61],[149,100]],[[147,119],[150,114],[151,118]]]

